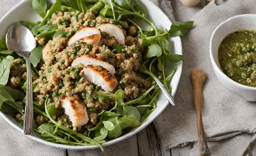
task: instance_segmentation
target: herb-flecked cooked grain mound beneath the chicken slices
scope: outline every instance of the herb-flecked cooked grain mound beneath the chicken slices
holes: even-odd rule
[[[83,64],[72,66],[72,62],[83,55],[92,55],[102,59],[115,68],[114,77],[118,85],[112,91],[124,91],[124,102],[138,98],[146,92],[153,83],[152,78],[139,72],[142,58],[145,55],[144,47],[140,45],[140,39],[136,38],[138,29],[126,21],[118,25],[124,34],[125,45],[120,51],[113,48],[118,45],[115,37],[100,31],[101,38],[98,44],[86,43],[78,40],[68,47],[68,41],[80,27],[98,26],[102,23],[114,23],[109,18],[97,16],[96,12],[75,13],[59,11],[52,14],[47,20],[48,25],[56,25],[58,30],[68,32],[67,37],[53,37],[48,40],[45,37],[38,38],[38,45],[43,46],[42,59],[33,73],[34,101],[43,107],[46,103],[54,105],[57,109],[52,119],[62,126],[68,127],[78,133],[88,135],[88,129],[93,128],[98,122],[98,113],[110,110],[116,103],[115,97],[100,97],[95,94],[107,94],[104,89],[82,77]],[[152,67],[155,70],[154,67]],[[157,71],[156,71],[157,72]],[[11,67],[8,85],[12,88],[21,88],[26,82],[26,65],[23,58],[14,60]],[[74,123],[66,115],[62,107],[62,99],[68,96],[78,97],[83,107],[87,110],[88,123],[82,126],[72,126]],[[46,101],[47,99],[47,101]],[[23,104],[24,105],[24,104]],[[16,114],[18,120],[24,120],[24,116]],[[34,127],[44,123],[51,123],[44,115],[34,113]]]

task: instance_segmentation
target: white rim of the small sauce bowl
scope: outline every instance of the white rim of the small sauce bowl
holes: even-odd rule
[[[218,25],[215,29],[214,29],[214,31],[213,31],[213,33],[212,33],[212,36],[211,36],[211,38],[210,38],[210,46],[209,46],[209,51],[210,51],[210,59],[211,59],[211,62],[212,62],[212,66],[213,66],[213,68],[214,68],[214,70],[216,71],[216,72],[218,72],[218,74],[220,74],[220,77],[222,77],[222,78],[224,78],[224,80],[227,80],[232,86],[236,86],[236,87],[238,87],[238,88],[243,88],[243,89],[246,89],[246,90],[253,90],[253,91],[256,91],[256,87],[250,87],[250,86],[246,86],[246,85],[244,85],[244,84],[240,84],[240,83],[238,83],[238,82],[236,82],[236,81],[234,81],[234,80],[232,80],[231,78],[229,78],[226,74],[224,74],[224,72],[222,71],[222,69],[220,68],[220,66],[218,66],[218,64],[219,64],[219,61],[217,60],[215,60],[214,59],[214,55],[213,55],[213,41],[214,41],[214,37],[215,37],[215,35],[216,35],[216,33],[218,33],[218,31],[220,30],[220,29],[222,29],[222,27],[226,24],[226,23],[228,23],[228,22],[230,22],[230,21],[232,21],[232,20],[236,20],[236,18],[244,18],[244,17],[247,17],[247,16],[254,16],[254,18],[256,18],[256,14],[243,14],[243,15],[236,15],[236,16],[233,16],[233,17],[231,17],[231,18],[228,18],[227,20],[225,20],[225,21],[223,21],[222,23],[220,23],[220,25]],[[256,30],[256,29],[255,29]],[[224,39],[224,38],[223,38]],[[223,40],[222,39],[222,40]],[[217,54],[218,55],[218,54]],[[216,73],[217,74],[217,73]]]

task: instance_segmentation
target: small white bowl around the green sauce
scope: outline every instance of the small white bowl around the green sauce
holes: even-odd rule
[[[244,14],[234,16],[222,22],[212,33],[210,39],[210,58],[217,78],[224,87],[246,101],[256,101],[256,88],[235,82],[222,72],[218,60],[218,48],[220,42],[230,33],[238,30],[256,30],[256,14]]]

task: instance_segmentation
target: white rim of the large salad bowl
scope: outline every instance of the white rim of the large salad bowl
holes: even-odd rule
[[[10,16],[10,14],[12,14],[12,12],[16,9],[18,9],[21,5],[27,3],[27,2],[31,2],[32,0],[22,0],[21,2],[19,2],[18,4],[16,4],[16,6],[14,6],[11,10],[9,10],[1,19],[0,19],[0,23],[1,21],[5,20],[6,18],[8,18],[8,16]],[[52,1],[52,0],[48,0],[49,1]],[[150,7],[153,7],[153,8],[156,8],[156,11],[158,11],[158,14],[160,14],[163,18],[165,19],[168,19],[168,17],[166,16],[166,14],[164,14],[164,12],[159,8],[157,7],[153,2],[151,2],[150,0],[140,0],[141,2],[143,2],[144,4],[147,4],[147,6],[150,6]],[[147,7],[146,6],[146,7]],[[165,21],[165,24],[168,24],[168,26],[171,25],[171,21],[168,19],[168,21]],[[176,54],[180,54],[182,55],[182,42],[181,42],[181,39],[179,36],[177,37],[172,37],[172,39],[175,39],[176,42],[176,45],[175,47],[178,48],[178,53]],[[170,39],[168,40],[170,41]],[[176,51],[177,52],[177,51]],[[182,73],[182,61],[179,62],[178,64],[176,64],[176,66],[178,67],[176,69],[176,72],[175,74],[172,76],[172,80],[175,79],[175,81],[177,81],[177,83],[173,84],[173,81],[170,82],[171,86],[172,86],[172,96],[174,96],[174,94],[176,93],[177,91],[177,88],[178,88],[178,84],[180,82],[180,76],[181,76],[181,73]],[[160,93],[160,96],[161,96],[162,93]],[[160,97],[159,96],[159,97]],[[158,98],[159,98],[158,97]],[[169,105],[169,102],[167,101],[164,101],[164,103],[162,103],[162,105],[164,105],[163,107],[157,107],[151,114],[150,116],[152,115],[155,115],[155,117],[153,118],[147,118],[144,120],[144,122],[141,123],[140,126],[138,127],[135,127],[134,129],[132,129],[129,133],[126,133],[125,135],[121,135],[119,136],[118,138],[115,138],[113,140],[110,140],[108,142],[104,142],[102,144],[102,147],[104,146],[109,146],[111,144],[114,144],[114,143],[117,143],[117,142],[120,142],[126,138],[129,138],[130,136],[138,133],[139,131],[141,131],[142,129],[144,129],[146,126],[148,126],[150,123],[152,123],[154,121],[154,119],[156,119],[156,117],[158,117],[158,115],[160,115],[165,109],[166,107]],[[158,113],[156,113],[158,112]],[[18,131],[22,132],[23,128],[20,127],[16,122],[13,123],[13,119],[12,118],[9,118],[7,117],[8,115],[2,113],[0,111],[0,116],[2,116],[7,122],[8,124],[10,124],[12,127],[14,127],[15,129],[17,129]],[[35,140],[39,143],[42,143],[42,144],[45,144],[45,145],[49,145],[49,146],[53,146],[53,147],[57,147],[57,148],[66,148],[66,149],[72,149],[72,150],[87,150],[87,149],[94,149],[94,148],[99,148],[100,146],[98,145],[85,145],[85,146],[74,146],[74,145],[66,145],[66,144],[57,144],[57,143],[53,143],[53,142],[49,142],[49,141],[46,141],[44,140],[43,138],[40,138],[39,135],[36,135],[34,133],[31,133],[30,135],[26,135],[28,136],[29,138],[32,138],[32,140]]]

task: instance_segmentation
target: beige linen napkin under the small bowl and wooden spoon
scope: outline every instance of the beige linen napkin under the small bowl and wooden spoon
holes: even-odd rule
[[[178,3],[174,0],[171,2]],[[194,27],[181,37],[185,60],[180,84],[174,96],[176,106],[169,105],[154,121],[163,148],[169,149],[197,141],[196,113],[190,83],[190,72],[194,68],[202,68],[207,74],[202,88],[202,122],[206,137],[210,141],[218,141],[236,135],[228,140],[210,142],[212,155],[241,155],[253,140],[254,136],[252,138],[248,134],[253,134],[256,129],[256,103],[234,96],[220,84],[210,62],[209,43],[212,32],[223,21],[240,14],[255,14],[254,4],[254,0],[213,0],[190,18],[194,21]],[[182,16],[178,17],[179,20],[183,19]],[[243,134],[238,135],[240,133]],[[217,145],[221,147],[224,144],[230,147],[224,147],[222,154],[218,153],[221,149]]]

